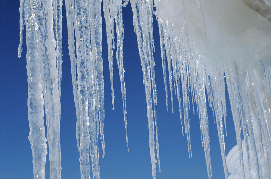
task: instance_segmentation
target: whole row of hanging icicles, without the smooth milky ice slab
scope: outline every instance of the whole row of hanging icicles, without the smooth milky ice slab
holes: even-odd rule
[[[167,2],[166,0],[164,0]],[[157,5],[161,1],[157,2]],[[195,11],[204,10],[200,1],[194,3]],[[113,90],[113,49],[116,49],[117,65],[121,81],[123,115],[127,137],[126,90],[123,68],[123,20],[122,8],[128,1],[122,0],[65,0],[69,55],[73,95],[76,107],[76,139],[79,150],[80,173],[82,178],[90,178],[90,164],[93,178],[100,178],[98,135],[101,139],[104,157],[104,79],[102,59],[102,17],[103,5],[106,22],[108,45],[108,61],[111,79],[112,105],[114,109]],[[188,110],[196,106],[201,126],[201,140],[204,147],[207,172],[212,178],[210,161],[210,144],[206,99],[213,110],[220,141],[221,156],[225,177],[228,177],[224,131],[226,132],[226,100],[225,80],[229,91],[229,99],[235,125],[236,140],[240,165],[245,177],[243,148],[245,145],[249,162],[254,163],[257,178],[263,177],[263,169],[270,177],[271,140],[268,123],[270,122],[271,68],[270,61],[260,61],[264,88],[259,89],[254,83],[257,76],[253,69],[242,70],[235,61],[224,67],[209,70],[205,64],[208,57],[199,54],[196,45],[188,39],[186,0],[182,0],[182,22],[173,26],[169,19],[159,16],[157,5],[149,0],[130,0],[133,13],[134,30],[137,36],[140,60],[145,85],[149,147],[152,164],[152,176],[156,178],[156,163],[160,168],[159,145],[156,119],[156,85],[154,73],[154,42],[153,14],[156,15],[159,34],[161,58],[164,73],[166,101],[168,96],[173,101],[173,93],[179,101],[179,113],[182,133],[186,134],[189,157],[192,157],[190,145],[190,126]],[[154,6],[157,11],[154,12]],[[178,19],[178,18],[177,18]],[[62,0],[20,0],[20,46],[22,52],[23,29],[26,27],[27,74],[28,74],[28,118],[29,140],[33,153],[34,178],[45,178],[45,159],[48,141],[50,177],[61,178],[60,148],[60,94],[61,94],[61,63],[62,63]],[[114,23],[116,27],[114,28]],[[179,27],[179,28],[176,28]],[[117,37],[114,36],[116,31]],[[117,38],[117,45],[115,45]],[[190,42],[190,43],[189,43]],[[245,65],[245,64],[244,64]],[[167,73],[170,95],[167,87]],[[211,67],[210,67],[211,68]],[[251,83],[254,81],[254,83]],[[207,96],[206,96],[207,91]],[[266,99],[262,99],[265,91]],[[182,92],[182,93],[181,93]],[[192,99],[189,95],[192,95]],[[193,105],[190,105],[192,103]],[[173,107],[173,103],[171,103]],[[45,108],[47,137],[43,121]],[[168,109],[168,104],[167,104]],[[182,111],[183,109],[183,111]],[[173,112],[173,111],[172,111]],[[253,120],[255,119],[255,120]],[[184,132],[183,132],[184,128]],[[257,132],[255,132],[257,131]],[[241,141],[244,136],[244,141]],[[256,142],[255,142],[256,141]],[[261,145],[256,145],[260,141]],[[156,153],[155,153],[156,148]],[[250,159],[249,153],[253,153]],[[91,161],[90,161],[91,159]],[[259,161],[264,161],[265,167]],[[267,168],[266,168],[267,166]],[[269,172],[268,172],[269,171]]]

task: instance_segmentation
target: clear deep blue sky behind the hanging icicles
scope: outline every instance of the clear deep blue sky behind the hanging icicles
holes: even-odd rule
[[[19,44],[19,0],[0,0],[0,178],[33,178],[32,152],[27,118],[27,73],[26,43],[24,38],[22,58],[17,57]],[[103,14],[103,13],[102,13]],[[103,18],[103,23],[104,18]],[[189,22],[188,22],[189,23]],[[103,26],[104,89],[105,89],[105,158],[100,157],[101,178],[152,178],[148,141],[145,88],[142,84],[142,69],[133,31],[130,3],[123,8],[125,29],[124,69],[126,82],[126,104],[129,149],[127,152],[123,122],[123,104],[120,79],[114,51],[115,110],[112,110],[107,42]],[[75,106],[67,48],[67,25],[63,5],[63,64],[61,89],[61,156],[62,178],[80,178],[79,152],[75,137]],[[154,20],[154,61],[156,63],[157,119],[161,160],[161,173],[157,165],[157,178],[208,178],[204,150],[201,146],[199,119],[190,111],[192,158],[188,158],[186,136],[182,137],[181,122],[176,96],[174,114],[166,111],[164,81],[160,57],[158,24]],[[226,92],[227,93],[227,92]],[[227,94],[226,94],[227,95]],[[170,99],[169,99],[170,104]],[[208,104],[207,104],[208,105]],[[236,145],[229,98],[227,97],[226,154]],[[213,178],[224,178],[216,124],[208,108],[210,146]],[[100,156],[102,154],[100,145]],[[49,178],[48,155],[46,178]]]

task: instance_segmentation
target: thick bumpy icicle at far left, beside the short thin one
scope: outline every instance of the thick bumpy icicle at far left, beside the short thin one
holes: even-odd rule
[[[24,4],[21,4],[24,5]],[[45,161],[47,155],[47,144],[45,137],[45,127],[43,121],[43,95],[42,79],[40,74],[39,57],[34,33],[35,21],[32,16],[29,0],[25,3],[26,7],[26,69],[28,82],[28,120],[30,132],[28,139],[31,144],[33,156],[34,178],[45,179]]]

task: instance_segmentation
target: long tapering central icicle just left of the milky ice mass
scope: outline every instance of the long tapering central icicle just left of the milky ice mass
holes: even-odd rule
[[[149,145],[152,165],[152,177],[156,178],[156,165],[154,152],[154,117],[156,115],[156,90],[155,90],[155,76],[154,76],[154,61],[153,61],[153,33],[152,33],[152,14],[153,4],[152,1],[139,1],[132,0],[131,6],[133,11],[134,27],[136,30],[137,43],[139,47],[139,56],[143,71],[143,80],[145,85],[145,94],[147,102],[147,115],[149,127]],[[151,91],[152,89],[152,91]],[[153,92],[154,103],[151,99]],[[153,107],[154,104],[154,114]],[[156,134],[157,135],[157,134]],[[157,143],[158,148],[158,143]],[[158,156],[159,150],[157,150]],[[159,158],[157,158],[159,161]],[[159,162],[158,162],[159,163]]]

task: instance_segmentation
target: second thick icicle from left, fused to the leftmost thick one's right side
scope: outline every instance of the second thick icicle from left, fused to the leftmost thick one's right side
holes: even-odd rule
[[[52,1],[30,1],[32,18],[35,20],[35,37],[41,71],[47,140],[49,146],[50,177],[61,178],[60,151],[60,91],[56,67],[55,38],[53,29]],[[62,11],[62,10],[61,10]],[[46,16],[44,16],[46,14]]]

